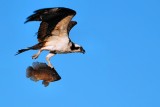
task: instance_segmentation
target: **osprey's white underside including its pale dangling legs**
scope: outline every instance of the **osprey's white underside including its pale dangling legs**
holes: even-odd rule
[[[46,56],[46,61],[48,62],[48,66],[52,68],[53,66],[50,62],[50,58],[53,57],[55,54],[72,53],[73,51],[70,48],[72,45],[72,42],[68,38],[67,33],[63,33],[63,34],[64,35],[61,35],[61,36],[55,35],[55,36],[50,36],[49,38],[47,38],[44,47],[39,49],[38,53],[32,56],[32,59],[38,58],[40,53],[44,50],[50,51],[49,54]],[[80,47],[77,44],[75,44],[75,46]]]

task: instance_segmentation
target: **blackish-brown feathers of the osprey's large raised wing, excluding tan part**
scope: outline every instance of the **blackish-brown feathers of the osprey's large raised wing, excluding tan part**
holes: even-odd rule
[[[29,21],[42,21],[38,30],[37,38],[39,41],[43,41],[46,37],[51,36],[51,32],[55,29],[57,24],[62,21],[62,19],[67,16],[73,17],[75,14],[76,12],[74,10],[64,7],[39,9],[36,10],[33,15],[29,16],[25,23]],[[68,21],[70,22],[70,20]]]

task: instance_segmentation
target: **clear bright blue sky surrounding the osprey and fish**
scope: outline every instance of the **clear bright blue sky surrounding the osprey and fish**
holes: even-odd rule
[[[86,54],[56,55],[62,77],[44,87],[26,78],[36,60],[18,49],[37,43],[39,22],[24,24],[34,10],[77,11],[71,39]],[[159,0],[1,0],[0,107],[160,107]]]

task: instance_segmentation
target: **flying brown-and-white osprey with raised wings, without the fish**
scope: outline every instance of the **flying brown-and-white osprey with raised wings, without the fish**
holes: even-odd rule
[[[42,51],[47,50],[49,54],[46,56],[46,61],[48,66],[52,68],[50,58],[56,54],[74,52],[84,54],[83,47],[73,43],[69,38],[70,30],[77,24],[76,21],[72,21],[75,15],[76,12],[74,10],[64,7],[36,10],[34,14],[27,18],[25,23],[41,21],[37,33],[38,43],[26,49],[18,50],[16,55],[28,50],[38,50],[32,56],[32,59],[36,59]]]

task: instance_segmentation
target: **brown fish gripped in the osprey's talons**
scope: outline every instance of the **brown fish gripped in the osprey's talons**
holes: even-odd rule
[[[26,70],[26,76],[33,81],[43,80],[42,84],[44,84],[45,87],[48,86],[50,82],[61,79],[54,68],[40,62],[34,62],[32,66],[29,66]]]

